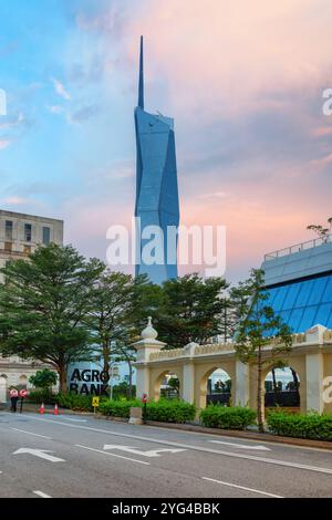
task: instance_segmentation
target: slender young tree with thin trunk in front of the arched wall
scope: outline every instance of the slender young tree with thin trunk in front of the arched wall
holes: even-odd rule
[[[240,361],[257,368],[257,418],[262,433],[262,371],[266,365],[276,366],[280,356],[290,352],[292,335],[289,326],[268,304],[269,293],[264,290],[262,270],[252,269],[250,278],[241,284],[241,291],[247,295],[247,302],[241,305],[235,349]]]

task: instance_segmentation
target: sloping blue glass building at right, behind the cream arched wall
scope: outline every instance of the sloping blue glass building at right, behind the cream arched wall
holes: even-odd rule
[[[266,254],[269,304],[293,332],[332,329],[332,240],[312,240]]]

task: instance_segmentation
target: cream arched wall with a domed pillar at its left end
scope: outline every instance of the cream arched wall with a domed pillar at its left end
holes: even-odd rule
[[[197,408],[204,408],[207,404],[208,379],[216,370],[220,368],[231,381],[231,404],[256,408],[256,367],[241,363],[236,357],[231,343],[207,345],[189,343],[184,349],[165,350],[165,343],[159,342],[157,335],[149,319],[148,325],[142,333],[142,340],[134,345],[137,350],[135,367],[138,397],[145,393],[151,399],[158,399],[160,382],[170,373],[176,374],[178,378],[179,397],[194,403]],[[332,331],[317,325],[303,334],[295,334],[292,350],[282,357],[282,361],[299,376],[301,412],[310,409],[319,413],[332,412],[332,399],[324,397],[332,376]],[[264,368],[263,399],[264,379],[271,368],[271,366]]]

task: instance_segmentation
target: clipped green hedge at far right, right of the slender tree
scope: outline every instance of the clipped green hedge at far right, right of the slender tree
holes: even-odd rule
[[[267,417],[269,429],[286,437],[332,440],[332,414],[288,414],[270,412]]]

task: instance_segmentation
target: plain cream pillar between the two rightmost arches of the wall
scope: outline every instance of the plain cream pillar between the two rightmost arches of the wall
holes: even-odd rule
[[[318,354],[307,354],[305,356],[305,371],[307,371],[307,412],[313,409],[320,414],[323,412],[323,355],[321,352]]]

